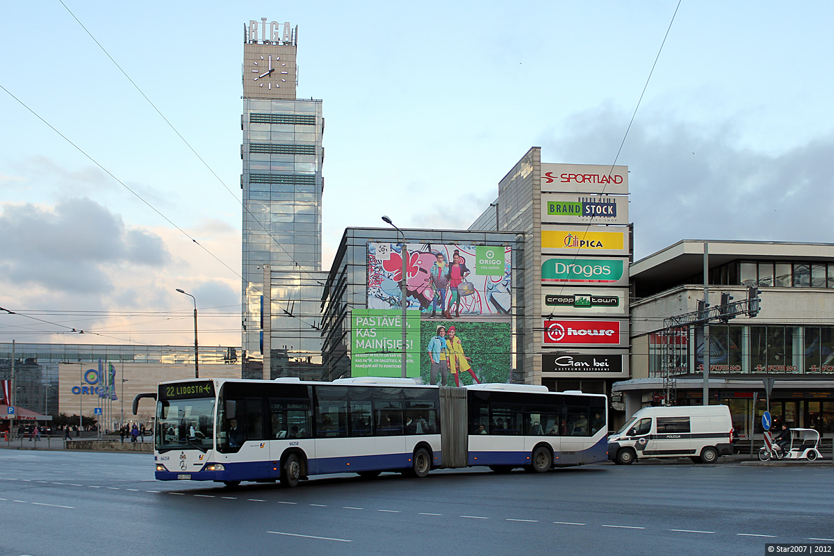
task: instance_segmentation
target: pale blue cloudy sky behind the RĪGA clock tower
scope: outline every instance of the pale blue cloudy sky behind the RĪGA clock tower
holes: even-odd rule
[[[831,243],[834,3],[3,2],[0,342],[187,346],[196,304],[201,346],[239,346],[260,18],[323,100],[324,269],[383,214],[467,228],[532,146],[629,167],[636,258]]]

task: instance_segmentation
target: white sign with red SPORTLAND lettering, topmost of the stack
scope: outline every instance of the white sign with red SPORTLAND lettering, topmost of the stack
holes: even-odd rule
[[[628,167],[542,163],[541,191],[626,195]]]

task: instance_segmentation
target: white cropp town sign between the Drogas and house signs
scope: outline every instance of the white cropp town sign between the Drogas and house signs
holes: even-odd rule
[[[626,288],[542,288],[541,312],[567,316],[628,314]]]

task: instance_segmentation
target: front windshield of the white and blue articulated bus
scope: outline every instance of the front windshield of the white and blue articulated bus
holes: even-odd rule
[[[159,452],[212,448],[214,398],[181,398],[157,403],[156,449]]]

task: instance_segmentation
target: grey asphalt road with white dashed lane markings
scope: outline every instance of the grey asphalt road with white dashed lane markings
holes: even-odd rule
[[[834,466],[159,482],[153,457],[0,450],[0,555],[765,554],[834,545]]]

